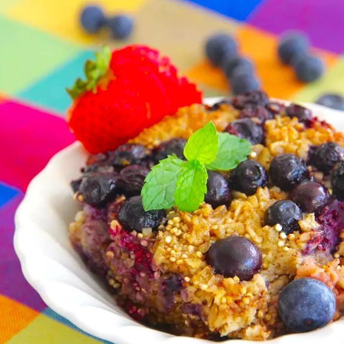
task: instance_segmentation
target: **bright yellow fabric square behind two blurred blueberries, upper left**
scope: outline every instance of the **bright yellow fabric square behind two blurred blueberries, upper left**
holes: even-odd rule
[[[82,8],[88,0],[17,0],[8,6],[5,14],[22,23],[56,34],[57,36],[86,44],[103,44],[108,32],[90,35],[79,22]],[[91,1],[92,2],[92,1]],[[135,12],[145,0],[98,0],[107,14]]]

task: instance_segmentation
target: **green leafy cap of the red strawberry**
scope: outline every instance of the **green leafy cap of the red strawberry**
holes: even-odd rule
[[[84,72],[86,80],[78,78],[71,88],[66,88],[72,99],[78,98],[88,90],[92,90],[95,93],[99,80],[107,73],[111,60],[110,48],[103,47],[101,51],[94,55],[95,61],[89,59],[85,62]]]

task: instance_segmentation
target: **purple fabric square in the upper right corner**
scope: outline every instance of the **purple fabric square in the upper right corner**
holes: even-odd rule
[[[248,23],[276,34],[299,29],[309,35],[313,46],[342,54],[343,15],[343,0],[266,0]]]

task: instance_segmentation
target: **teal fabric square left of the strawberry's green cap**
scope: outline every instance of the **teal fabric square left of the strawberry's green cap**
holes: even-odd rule
[[[64,115],[71,104],[65,87],[71,87],[77,78],[84,76],[84,63],[86,59],[93,57],[92,51],[77,55],[17,96]]]

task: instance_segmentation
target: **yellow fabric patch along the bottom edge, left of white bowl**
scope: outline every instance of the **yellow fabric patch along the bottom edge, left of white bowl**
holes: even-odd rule
[[[99,341],[85,336],[68,326],[50,319],[46,315],[38,315],[24,330],[14,336],[9,344],[99,344]]]

